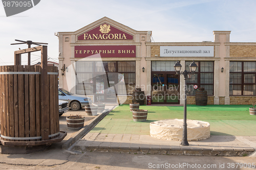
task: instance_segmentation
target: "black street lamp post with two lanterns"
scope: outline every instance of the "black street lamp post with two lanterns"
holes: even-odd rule
[[[193,62],[189,65],[190,71],[187,71],[186,69],[184,71],[181,71],[182,65],[177,60],[177,62],[174,65],[175,71],[177,75],[183,75],[184,76],[184,114],[183,114],[183,134],[182,134],[182,142],[181,145],[189,145],[187,141],[187,75],[195,74],[195,71],[197,70],[197,64]]]

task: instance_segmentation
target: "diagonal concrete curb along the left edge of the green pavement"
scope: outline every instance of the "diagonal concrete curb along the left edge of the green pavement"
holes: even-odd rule
[[[97,117],[92,119],[89,125],[84,126],[82,129],[80,129],[76,134],[74,134],[69,140],[67,140],[65,143],[62,144],[62,149],[68,149],[71,147],[72,144],[74,144],[78,139],[86,135],[94,126],[96,126],[100,120],[102,120],[106,115],[109,114],[111,110],[105,111],[101,114],[99,114]]]

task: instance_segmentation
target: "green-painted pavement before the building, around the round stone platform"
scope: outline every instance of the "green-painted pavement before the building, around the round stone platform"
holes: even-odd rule
[[[240,106],[240,107],[239,107]],[[187,118],[210,123],[211,135],[256,135],[256,116],[249,115],[250,105],[188,105]],[[140,106],[147,109],[146,122],[134,122],[129,105],[110,112],[92,133],[150,134],[150,123],[156,120],[183,118],[183,106]]]

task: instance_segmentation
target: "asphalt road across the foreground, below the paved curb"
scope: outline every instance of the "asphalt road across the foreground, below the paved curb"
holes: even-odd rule
[[[0,169],[256,169],[256,158],[70,152],[53,144],[44,152],[0,154]],[[247,166],[247,167],[245,167]],[[242,168],[240,168],[242,167]]]

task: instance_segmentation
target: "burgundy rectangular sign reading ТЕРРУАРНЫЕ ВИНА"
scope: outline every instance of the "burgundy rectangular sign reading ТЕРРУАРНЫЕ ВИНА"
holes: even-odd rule
[[[75,46],[75,58],[100,54],[101,57],[136,57],[136,45]]]

